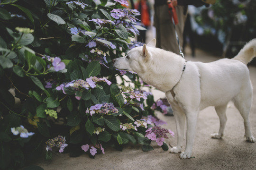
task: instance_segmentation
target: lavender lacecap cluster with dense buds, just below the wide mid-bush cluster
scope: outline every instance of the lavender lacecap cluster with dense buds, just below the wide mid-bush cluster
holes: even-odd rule
[[[90,109],[86,110],[86,113],[91,114],[91,116],[94,113],[99,114],[110,114],[110,113],[118,113],[118,109],[114,107],[113,103],[102,103],[102,104],[96,104],[94,106],[91,106]]]

